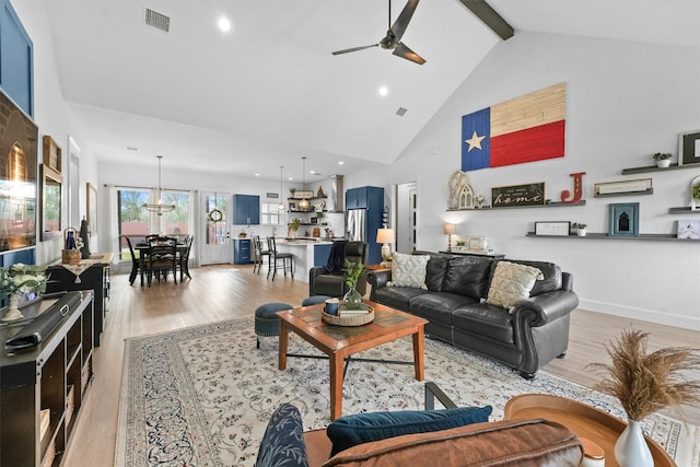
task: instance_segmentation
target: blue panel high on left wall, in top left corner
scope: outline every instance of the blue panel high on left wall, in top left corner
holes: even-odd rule
[[[34,45],[10,0],[0,0],[0,89],[34,116]]]

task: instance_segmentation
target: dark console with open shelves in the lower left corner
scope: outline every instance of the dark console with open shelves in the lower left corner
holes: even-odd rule
[[[0,347],[0,465],[58,466],[93,378],[93,296],[79,300],[34,347]],[[44,311],[44,299],[22,308],[31,318]],[[66,312],[66,308],[63,308]],[[20,332],[26,322],[0,326],[0,341]]]

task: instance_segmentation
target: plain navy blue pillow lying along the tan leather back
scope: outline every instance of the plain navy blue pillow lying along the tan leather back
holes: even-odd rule
[[[357,444],[404,434],[429,433],[487,422],[493,408],[458,407],[447,410],[404,410],[340,417],[326,429],[332,442],[331,456]]]

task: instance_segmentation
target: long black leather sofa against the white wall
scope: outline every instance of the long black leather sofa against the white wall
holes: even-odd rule
[[[420,252],[419,252],[420,253]],[[427,290],[386,287],[392,270],[368,273],[370,300],[429,319],[425,334],[495,359],[524,378],[569,346],[570,313],[578,306],[573,278],[552,262],[505,259],[538,268],[530,297],[509,310],[486,303],[494,260],[489,257],[429,254]]]

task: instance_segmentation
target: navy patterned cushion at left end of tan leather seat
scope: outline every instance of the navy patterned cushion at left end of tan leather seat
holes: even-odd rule
[[[308,467],[299,409],[282,404],[267,424],[255,467]]]

